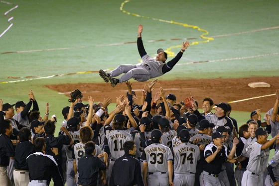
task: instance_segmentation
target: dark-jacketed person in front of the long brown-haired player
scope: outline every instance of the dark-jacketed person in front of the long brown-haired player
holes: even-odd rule
[[[81,157],[78,161],[78,185],[79,186],[99,186],[98,178],[99,171],[103,172],[101,180],[102,185],[106,184],[106,164],[100,160],[99,157],[94,157],[95,143],[92,141],[84,145],[85,156]]]

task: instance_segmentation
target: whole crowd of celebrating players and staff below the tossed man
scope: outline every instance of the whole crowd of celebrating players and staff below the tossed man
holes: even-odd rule
[[[0,99],[0,186],[279,186],[279,90],[271,110],[238,124],[230,104],[179,102],[156,82],[138,95],[127,81],[113,110],[75,90],[60,128],[32,91],[26,103]]]

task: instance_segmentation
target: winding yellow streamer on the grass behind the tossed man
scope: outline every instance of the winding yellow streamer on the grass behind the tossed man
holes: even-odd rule
[[[198,45],[200,43],[208,43],[209,41],[214,40],[214,38],[212,38],[212,37],[206,37],[206,35],[208,35],[208,33],[209,33],[207,30],[201,29],[199,26],[196,26],[196,25],[189,25],[187,23],[180,23],[180,22],[176,22],[176,21],[172,21],[172,20],[168,21],[168,20],[163,20],[163,19],[146,17],[146,16],[139,15],[139,14],[136,14],[136,13],[128,12],[128,11],[123,9],[124,4],[126,4],[127,2],[130,2],[130,0],[125,0],[124,2],[122,2],[119,9],[120,9],[120,11],[122,11],[123,13],[126,13],[128,15],[133,15],[133,16],[141,17],[141,18],[145,18],[145,19],[152,19],[154,21],[161,21],[161,22],[170,23],[170,24],[177,24],[177,25],[181,25],[181,26],[184,26],[184,27],[190,27],[190,28],[193,28],[193,29],[197,29],[198,31],[204,32],[203,34],[200,35],[200,38],[204,39],[203,41],[194,41],[194,42],[191,42],[190,45]],[[180,47],[182,47],[182,45],[169,47],[165,50],[165,52],[168,54],[168,57],[175,57],[175,53],[171,52],[171,49],[180,48]]]

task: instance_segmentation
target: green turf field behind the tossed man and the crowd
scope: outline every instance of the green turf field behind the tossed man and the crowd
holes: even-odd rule
[[[139,24],[143,25],[142,39],[149,55],[155,55],[158,48],[165,50],[181,45],[183,41],[147,42],[149,40],[199,38],[204,33],[191,27],[151,18],[195,25],[207,30],[207,36],[247,31],[238,35],[215,37],[208,43],[190,46],[183,57],[192,61],[254,57],[188,65],[184,63],[190,61],[182,58],[179,63],[183,65],[174,67],[170,73],[160,77],[160,80],[177,77],[187,79],[279,75],[279,29],[259,31],[279,26],[278,0],[131,0],[123,7],[131,12],[130,15],[120,11],[123,0],[10,2],[19,6],[8,13],[14,17],[11,20],[13,26],[0,37],[0,82],[28,79],[7,79],[8,76],[49,76],[139,63],[137,44],[108,46],[136,41]],[[9,26],[8,18],[3,14],[13,6],[0,2],[0,33]],[[150,18],[133,16],[133,13]],[[205,40],[189,40],[197,41]],[[71,49],[53,50],[60,48]],[[177,53],[179,49],[178,47],[171,51]],[[43,51],[2,54],[34,50]],[[257,57],[267,54],[273,55]],[[44,111],[45,103],[49,102],[50,115],[56,114],[60,125],[63,119],[61,110],[68,105],[67,97],[44,85],[79,82],[102,82],[102,79],[98,73],[88,73],[1,83],[0,98],[4,103],[27,101],[28,91],[32,89],[41,111]],[[246,112],[232,113],[239,124],[245,123],[249,115]]]

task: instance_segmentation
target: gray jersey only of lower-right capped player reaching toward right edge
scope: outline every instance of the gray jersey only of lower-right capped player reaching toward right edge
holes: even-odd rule
[[[252,150],[247,165],[247,170],[257,175],[264,174],[270,157],[270,148],[261,150],[263,145],[255,142],[252,145]]]

